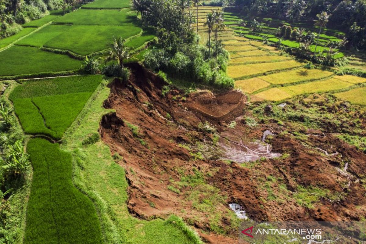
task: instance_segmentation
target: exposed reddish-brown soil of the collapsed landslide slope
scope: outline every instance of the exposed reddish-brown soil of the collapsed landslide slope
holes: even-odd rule
[[[366,216],[365,183],[357,180],[365,179],[366,154],[354,146],[332,134],[324,136],[321,131],[310,131],[313,135],[304,144],[291,134],[281,134],[283,128],[277,124],[249,127],[240,117],[245,113],[246,97],[239,91],[219,95],[201,91],[184,96],[182,91],[172,90],[164,97],[163,80],[139,64],[130,68],[132,75],[128,82],[116,80],[110,85],[111,94],[105,107],[116,112],[103,117],[100,133],[112,154],[123,157],[119,164],[126,169],[130,185],[128,208],[132,214],[141,218],[176,214],[203,230],[198,232],[207,242],[234,243],[237,230],[230,227],[231,219],[225,214],[220,224],[225,236],[209,233],[212,228],[206,213],[187,200],[194,189],[183,187],[177,194],[167,188],[171,181],[180,180],[180,171],[194,175],[194,169],[198,169],[209,185],[226,196],[226,204],[217,206],[218,212],[231,211],[228,204],[234,202],[257,221],[349,221]],[[263,132],[271,129],[275,134],[272,151],[289,157],[265,159],[251,167],[217,160],[223,152],[213,143],[213,134],[199,126],[206,120],[217,129],[220,143],[261,140]],[[237,122],[235,128],[227,126],[232,120]],[[138,134],[130,124],[139,127]],[[196,152],[194,147],[189,151],[181,146],[197,142],[204,145],[202,160],[192,154]],[[351,178],[339,171],[346,162]],[[271,183],[276,200],[268,198],[269,192],[264,187],[269,175],[278,179]],[[287,191],[281,191],[280,183]],[[309,209],[293,198],[297,185],[321,186],[339,198],[332,202],[321,198]]]

